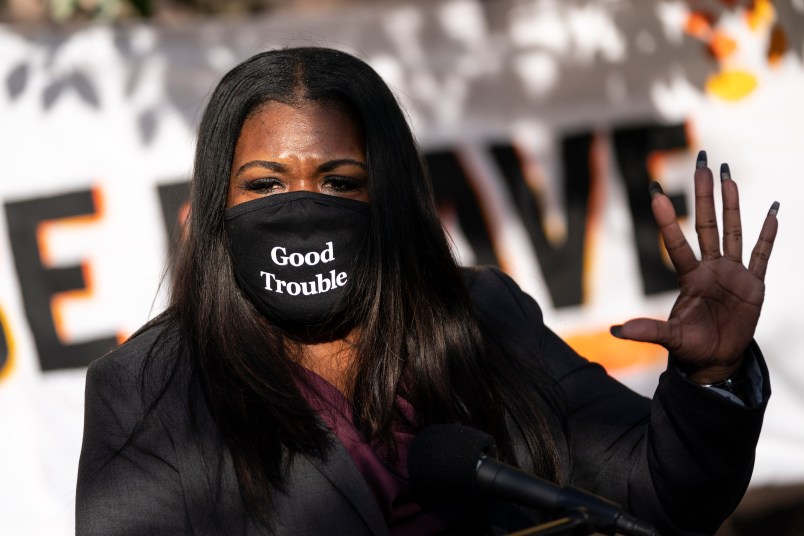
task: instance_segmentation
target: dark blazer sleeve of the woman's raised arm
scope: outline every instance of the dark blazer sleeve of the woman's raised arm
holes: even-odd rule
[[[664,535],[712,534],[736,508],[751,478],[770,396],[744,407],[698,386],[672,363],[652,399],[579,356],[543,322],[541,309],[508,276],[482,270],[470,289],[482,318],[539,361],[566,400],[571,484],[617,502]]]

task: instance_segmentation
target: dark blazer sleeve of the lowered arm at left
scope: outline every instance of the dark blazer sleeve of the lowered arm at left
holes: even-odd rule
[[[87,371],[76,534],[190,533],[171,435],[156,411],[143,420],[147,407],[126,353]]]

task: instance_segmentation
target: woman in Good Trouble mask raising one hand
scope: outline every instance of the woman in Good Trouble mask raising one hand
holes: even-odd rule
[[[456,266],[405,118],[367,65],[254,56],[202,119],[170,306],[89,369],[78,534],[532,525],[514,505],[412,495],[410,441],[445,422],[667,534],[713,532],[747,486],[770,394],[752,336],[778,209],[746,269],[722,177],[721,255],[702,153],[700,262],[654,191],[681,295],[667,322],[613,328],[671,353],[647,400],[577,356],[508,277]]]

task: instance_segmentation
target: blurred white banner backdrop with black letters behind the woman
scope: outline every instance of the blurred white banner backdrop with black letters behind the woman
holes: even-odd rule
[[[675,297],[649,182],[690,236],[700,149],[747,244],[780,201],[773,397],[719,534],[804,534],[804,0],[0,0],[0,533],[73,533],[86,366],[164,305],[201,110],[240,61],[302,45],[394,89],[461,262],[646,395],[665,352],[608,327]]]

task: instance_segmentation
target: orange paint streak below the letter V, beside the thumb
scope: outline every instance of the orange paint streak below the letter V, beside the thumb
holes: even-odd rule
[[[635,366],[650,366],[667,359],[667,350],[646,342],[626,341],[608,330],[563,337],[570,347],[609,372]]]

